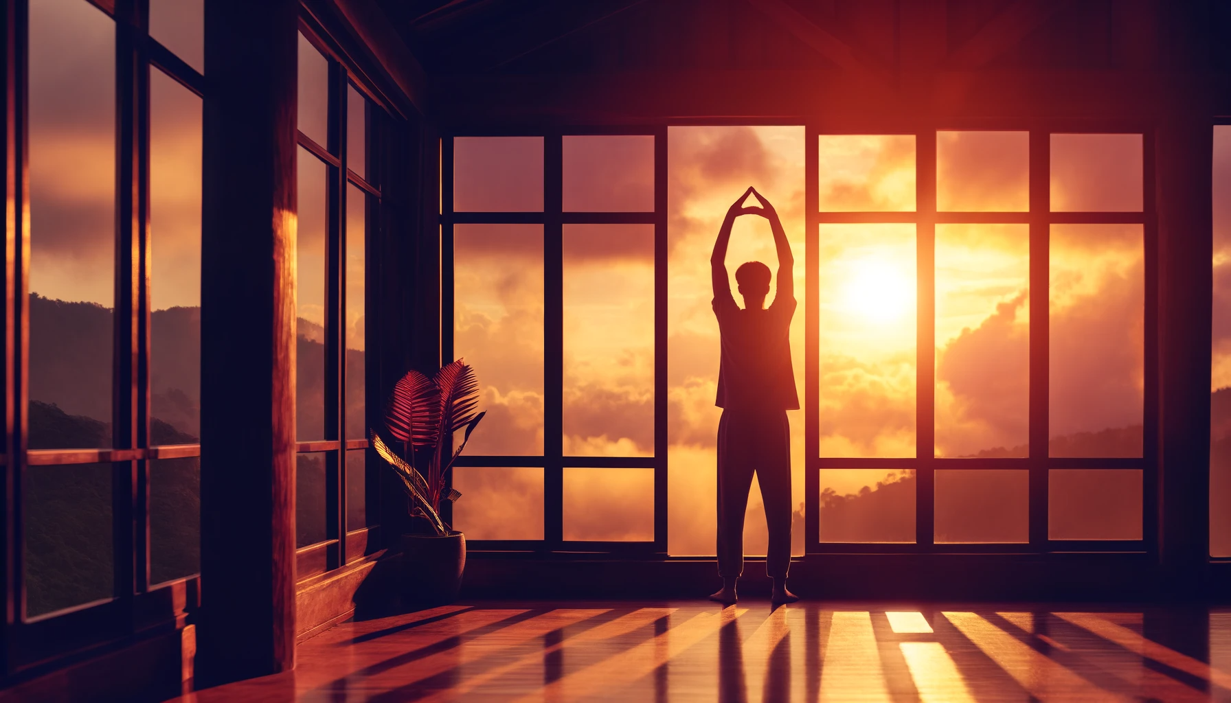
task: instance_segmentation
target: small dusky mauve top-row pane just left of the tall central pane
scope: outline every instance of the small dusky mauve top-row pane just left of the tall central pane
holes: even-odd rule
[[[564,212],[654,212],[654,135],[565,137]]]

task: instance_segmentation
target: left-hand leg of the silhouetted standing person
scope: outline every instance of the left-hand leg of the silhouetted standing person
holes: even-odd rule
[[[735,582],[744,572],[744,513],[752,488],[755,435],[747,422],[731,410],[718,424],[718,574],[723,590],[710,596],[735,602]]]

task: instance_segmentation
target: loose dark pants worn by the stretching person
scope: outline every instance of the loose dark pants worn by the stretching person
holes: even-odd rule
[[[723,410],[718,424],[718,572],[744,572],[744,513],[752,474],[769,528],[766,574],[785,579],[790,565],[790,424],[785,410]]]

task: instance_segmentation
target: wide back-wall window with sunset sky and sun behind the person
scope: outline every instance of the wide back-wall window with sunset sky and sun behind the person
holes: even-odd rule
[[[489,411],[454,476],[476,548],[713,553],[705,268],[747,185],[806,279],[796,554],[1150,548],[1144,132],[602,132],[444,142],[444,350]],[[772,265],[744,219],[729,270]]]

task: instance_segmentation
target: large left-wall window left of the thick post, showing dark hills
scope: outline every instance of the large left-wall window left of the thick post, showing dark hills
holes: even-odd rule
[[[17,6],[12,667],[199,570],[202,4],[123,7]]]

